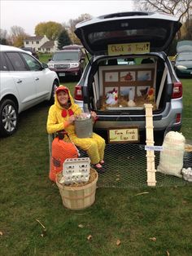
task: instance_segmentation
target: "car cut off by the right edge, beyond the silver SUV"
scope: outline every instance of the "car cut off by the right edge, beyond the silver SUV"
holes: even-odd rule
[[[183,40],[177,43],[174,68],[177,77],[192,77],[192,41]]]

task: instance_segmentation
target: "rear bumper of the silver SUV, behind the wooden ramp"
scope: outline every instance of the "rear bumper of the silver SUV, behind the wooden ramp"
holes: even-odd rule
[[[167,104],[167,108],[162,113],[153,115],[154,136],[157,143],[162,143],[164,134],[170,130],[179,131],[181,129],[181,120],[177,121],[177,114],[182,113],[182,101],[172,100]],[[120,127],[137,126],[139,132],[139,142],[146,142],[146,117],[142,115],[127,116],[102,116],[98,115],[98,121],[94,125],[94,131],[102,135],[107,141],[108,130]]]

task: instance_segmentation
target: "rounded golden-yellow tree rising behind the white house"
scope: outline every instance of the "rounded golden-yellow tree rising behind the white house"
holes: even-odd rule
[[[59,33],[63,30],[63,26],[55,21],[41,22],[35,27],[35,34],[37,36],[46,35],[50,40],[55,41]]]

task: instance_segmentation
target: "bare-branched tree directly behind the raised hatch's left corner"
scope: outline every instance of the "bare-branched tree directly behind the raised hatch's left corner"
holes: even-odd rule
[[[76,34],[74,33],[75,29],[76,29],[76,24],[81,22],[81,21],[84,21],[84,20],[89,20],[91,19],[91,15],[89,15],[88,13],[84,13],[84,14],[81,14],[77,19],[75,20],[69,20],[69,25],[68,25],[68,34],[69,34],[69,37],[71,38],[72,40],[72,43],[76,43],[76,44],[81,44],[79,38],[76,38]]]

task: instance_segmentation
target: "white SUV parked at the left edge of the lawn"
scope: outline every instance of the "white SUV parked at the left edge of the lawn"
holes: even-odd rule
[[[59,77],[33,55],[0,45],[0,135],[12,135],[18,114],[44,100],[54,102]]]

